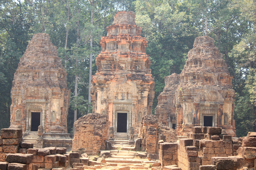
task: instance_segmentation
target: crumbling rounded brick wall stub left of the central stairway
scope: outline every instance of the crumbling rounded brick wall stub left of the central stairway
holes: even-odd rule
[[[72,150],[85,148],[87,154],[97,154],[106,149],[109,122],[107,115],[87,114],[75,122]]]

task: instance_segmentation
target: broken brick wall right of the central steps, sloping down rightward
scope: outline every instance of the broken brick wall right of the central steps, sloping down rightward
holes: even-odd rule
[[[155,115],[143,116],[138,136],[141,138],[141,149],[150,154],[158,153],[160,135],[166,135],[168,141],[176,142],[177,135],[172,128],[159,124]]]

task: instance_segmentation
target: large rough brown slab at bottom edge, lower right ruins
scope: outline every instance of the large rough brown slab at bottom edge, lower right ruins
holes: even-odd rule
[[[244,159],[238,156],[212,157],[212,165],[216,165],[217,170],[236,170]]]

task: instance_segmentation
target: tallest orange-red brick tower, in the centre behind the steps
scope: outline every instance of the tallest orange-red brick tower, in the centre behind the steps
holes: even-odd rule
[[[102,37],[92,78],[93,113],[107,114],[115,132],[137,132],[142,116],[152,114],[154,78],[145,53],[146,38],[135,24],[134,12],[121,11]]]

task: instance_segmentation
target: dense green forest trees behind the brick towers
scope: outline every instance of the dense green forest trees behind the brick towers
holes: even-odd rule
[[[164,77],[180,73],[194,39],[209,35],[223,54],[236,92],[234,118],[237,136],[256,131],[256,5],[254,0],[0,0],[0,128],[10,125],[10,91],[19,59],[33,34],[43,32],[57,46],[71,89],[68,131],[77,118],[92,111],[88,103],[89,55],[92,74],[100,37],[120,10],[136,13],[136,24],[147,38],[146,53],[155,78],[155,99],[165,86]],[[94,12],[93,17],[91,12]],[[93,18],[93,24],[91,22]],[[78,24],[79,23],[79,24]],[[90,36],[93,35],[93,47]],[[67,36],[67,37],[66,37]],[[78,36],[78,37],[77,37]],[[78,40],[78,41],[77,41]],[[76,64],[77,59],[77,64]],[[75,75],[78,96],[74,96]],[[180,89],[181,90],[181,89]],[[76,104],[76,107],[75,107]]]

